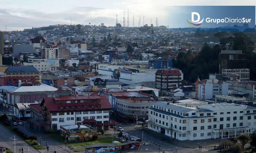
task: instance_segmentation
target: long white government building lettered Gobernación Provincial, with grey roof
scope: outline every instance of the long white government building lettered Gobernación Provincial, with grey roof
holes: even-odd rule
[[[149,129],[177,140],[229,138],[256,128],[256,108],[234,103],[184,107],[167,102],[149,108]]]

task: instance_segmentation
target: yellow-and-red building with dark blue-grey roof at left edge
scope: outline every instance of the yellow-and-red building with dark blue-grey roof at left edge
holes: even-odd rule
[[[9,66],[0,77],[0,85],[17,84],[19,80],[33,84],[40,83],[40,72],[34,66]]]

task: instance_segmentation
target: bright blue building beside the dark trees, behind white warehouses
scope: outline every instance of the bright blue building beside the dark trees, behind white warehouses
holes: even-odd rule
[[[149,69],[170,69],[173,67],[171,60],[164,60],[162,58],[153,59],[148,61]]]

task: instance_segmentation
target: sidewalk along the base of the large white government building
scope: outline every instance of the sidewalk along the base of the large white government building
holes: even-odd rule
[[[141,131],[141,128],[135,128],[137,130]],[[155,137],[160,138],[163,141],[167,141],[167,142],[171,142],[172,144],[175,144],[177,146],[181,146],[184,148],[198,148],[199,146],[202,147],[213,147],[215,145],[219,145],[219,139],[204,139],[204,140],[177,140],[177,139],[172,139],[170,137],[168,137],[167,135],[163,134],[163,133],[158,133],[158,132],[154,132],[148,128],[144,128],[144,132],[148,133],[150,135],[153,135]],[[224,139],[220,139],[220,143],[223,141]]]

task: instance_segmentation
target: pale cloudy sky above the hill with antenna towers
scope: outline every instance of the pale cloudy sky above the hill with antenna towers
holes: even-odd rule
[[[169,21],[168,6],[176,5],[256,5],[255,0],[0,0],[0,30],[23,30],[24,28],[42,27],[55,24],[95,24],[104,23],[106,26],[118,23],[123,26],[123,16],[127,21],[129,9],[129,26],[141,24],[154,26],[156,18],[158,25],[172,24]],[[175,16],[174,14],[171,14]],[[152,22],[150,21],[152,20]],[[121,22],[120,22],[121,20]],[[127,24],[127,22],[126,22]]]

